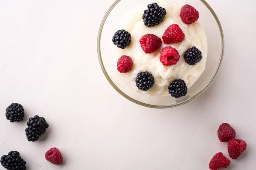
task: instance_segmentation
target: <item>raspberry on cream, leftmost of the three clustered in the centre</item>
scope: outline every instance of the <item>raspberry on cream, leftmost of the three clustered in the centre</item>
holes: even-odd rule
[[[145,34],[140,39],[140,46],[146,54],[157,51],[162,45],[162,40],[154,34]]]

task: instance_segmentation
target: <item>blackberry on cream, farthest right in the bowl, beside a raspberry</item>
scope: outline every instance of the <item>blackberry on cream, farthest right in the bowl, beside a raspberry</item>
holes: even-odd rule
[[[195,65],[203,58],[202,52],[196,47],[189,48],[184,54],[184,59],[189,65]]]

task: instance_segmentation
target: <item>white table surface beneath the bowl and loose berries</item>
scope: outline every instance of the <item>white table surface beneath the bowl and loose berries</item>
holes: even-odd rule
[[[101,71],[96,37],[113,0],[0,0],[0,155],[20,151],[28,170],[207,170],[228,156],[217,137],[228,122],[248,145],[229,170],[256,170],[256,3],[207,2],[224,29],[221,71],[197,99],[160,110],[128,101]],[[6,120],[12,102],[45,117],[39,141],[26,140],[26,120]],[[63,165],[45,160],[50,147]]]

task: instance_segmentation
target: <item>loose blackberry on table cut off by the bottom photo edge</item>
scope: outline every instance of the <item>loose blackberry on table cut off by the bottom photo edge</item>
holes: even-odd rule
[[[3,155],[0,162],[7,170],[26,170],[26,161],[20,157],[20,153],[17,151]]]

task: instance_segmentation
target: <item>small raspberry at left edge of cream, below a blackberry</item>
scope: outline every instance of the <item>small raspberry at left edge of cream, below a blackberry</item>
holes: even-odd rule
[[[132,59],[129,56],[121,56],[117,61],[117,70],[120,73],[128,73],[132,69]]]

